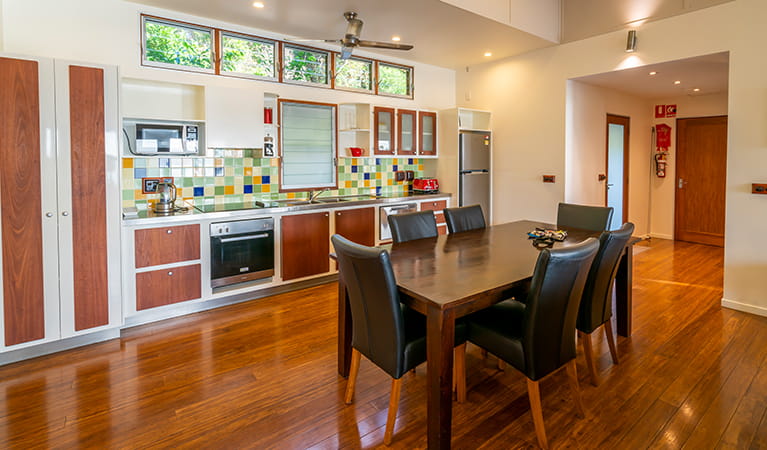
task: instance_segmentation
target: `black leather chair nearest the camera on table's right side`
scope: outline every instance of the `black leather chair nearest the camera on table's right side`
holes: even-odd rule
[[[467,317],[468,340],[506,361],[527,377],[535,433],[548,448],[539,382],[562,367],[579,415],[583,416],[575,368],[575,322],[589,268],[599,248],[596,238],[538,255],[524,303],[504,300]]]

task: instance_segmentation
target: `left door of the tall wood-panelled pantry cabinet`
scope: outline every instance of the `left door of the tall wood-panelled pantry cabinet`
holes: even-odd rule
[[[2,348],[59,337],[53,62],[0,55]]]

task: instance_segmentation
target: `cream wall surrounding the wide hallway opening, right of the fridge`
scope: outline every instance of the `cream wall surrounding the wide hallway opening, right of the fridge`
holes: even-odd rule
[[[724,304],[767,315],[767,196],[750,193],[767,167],[767,2],[736,0],[638,28],[639,51],[616,31],[458,72],[459,106],[493,111],[497,221],[551,221],[564,199],[566,86],[571,78],[730,51]],[[470,101],[465,94],[470,92]],[[561,179],[561,178],[560,178]]]

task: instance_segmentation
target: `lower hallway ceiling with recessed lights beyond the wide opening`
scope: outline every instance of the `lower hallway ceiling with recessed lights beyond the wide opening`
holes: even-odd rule
[[[707,95],[727,92],[730,55],[727,52],[633,69],[575,78],[576,81],[613,89],[646,99]],[[650,75],[650,72],[656,72]],[[680,84],[674,84],[681,81]],[[694,89],[700,91],[694,91]]]

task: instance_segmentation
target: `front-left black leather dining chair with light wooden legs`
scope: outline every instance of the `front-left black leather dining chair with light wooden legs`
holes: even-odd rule
[[[426,317],[400,303],[389,252],[331,237],[352,313],[352,361],[344,402],[351,404],[361,356],[392,377],[384,444],[391,444],[402,376],[426,361]],[[456,326],[458,390],[466,391],[465,328]]]

